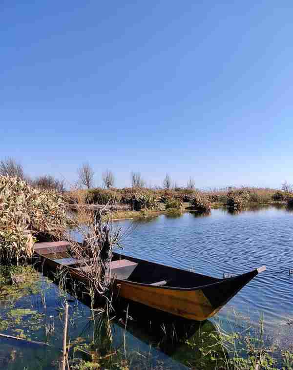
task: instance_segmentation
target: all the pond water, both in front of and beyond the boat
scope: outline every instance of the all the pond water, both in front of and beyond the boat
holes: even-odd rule
[[[50,344],[43,347],[0,338],[0,369],[59,369],[66,297],[71,299],[71,366],[81,359],[89,360],[91,356],[85,353],[88,352],[94,359],[99,358],[100,369],[214,369],[214,363],[202,358],[200,351],[202,346],[213,344],[209,333],[215,330],[214,323],[221,322],[228,330],[235,325],[243,329],[257,322],[260,312],[265,315],[273,340],[284,346],[292,344],[293,326],[287,323],[293,320],[293,276],[289,276],[289,269],[293,268],[293,213],[282,207],[233,214],[217,209],[209,216],[161,215],[114,225],[132,229],[124,240],[126,255],[214,277],[262,265],[267,270],[201,327],[196,322],[177,321],[134,305],[129,308],[131,318],[125,330],[127,308],[122,306],[110,314],[113,341],[107,334],[103,315],[93,323],[87,305],[41,273],[24,288],[0,286],[0,332]],[[54,324],[51,334],[45,330],[50,323]],[[96,352],[90,348],[92,342]]]

